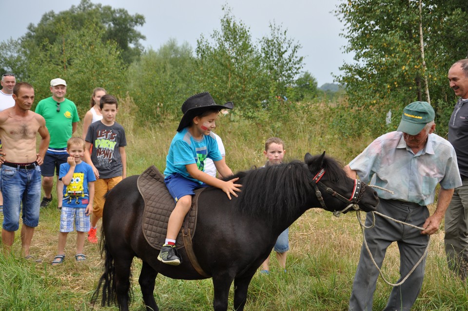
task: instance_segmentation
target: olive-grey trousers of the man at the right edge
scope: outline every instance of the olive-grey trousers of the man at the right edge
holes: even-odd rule
[[[455,189],[445,212],[445,253],[448,268],[463,280],[468,270],[468,178]]]

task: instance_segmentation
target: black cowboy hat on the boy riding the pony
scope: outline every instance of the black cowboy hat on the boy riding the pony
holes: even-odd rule
[[[194,117],[201,115],[205,110],[209,109],[233,109],[234,104],[232,101],[225,103],[224,105],[217,105],[210,93],[198,93],[192,97],[187,98],[182,104],[182,112],[184,116],[180,120],[177,132],[180,132],[184,127],[190,125],[190,122]]]

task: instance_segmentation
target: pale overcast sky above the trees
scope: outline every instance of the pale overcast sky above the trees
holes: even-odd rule
[[[250,27],[254,42],[270,34],[269,24],[275,22],[288,31],[291,39],[302,45],[304,70],[314,76],[318,85],[333,82],[333,74],[352,55],[342,53],[346,40],[339,34],[343,25],[331,13],[342,0],[92,0],[93,3],[125,8],[130,14],[142,14],[146,23],[138,30],[146,36],[144,47],[157,50],[170,38],[178,44],[187,41],[195,50],[200,35],[210,38],[220,28],[224,16],[221,7],[227,3],[237,21]],[[18,39],[26,33],[29,23],[37,24],[42,15],[56,13],[78,5],[79,0],[1,0],[3,31],[0,41]],[[11,13],[11,14],[8,14]]]

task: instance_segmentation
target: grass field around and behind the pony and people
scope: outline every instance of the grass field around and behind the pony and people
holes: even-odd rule
[[[118,115],[127,133],[128,175],[139,174],[152,164],[164,169],[176,122],[157,126],[138,124],[130,113],[132,109],[131,102],[128,102]],[[323,126],[326,117],[323,110],[311,111],[315,112],[297,116],[289,125],[281,127],[221,117],[216,132],[225,143],[227,164],[233,171],[262,165],[263,142],[270,136],[280,136],[285,140],[287,160],[303,158],[306,152],[317,154],[326,150],[343,163],[351,160],[372,139],[363,136],[357,141],[344,140],[339,134],[333,134],[337,131]],[[42,259],[42,263],[19,257],[18,234],[13,255],[0,253],[0,310],[117,310],[89,303],[102,273],[97,245],[86,241],[84,253],[88,259],[77,263],[74,258],[76,233],[70,233],[65,262],[59,266],[50,265],[58,247],[60,213],[56,206],[54,199],[50,207],[41,210],[39,227],[33,237],[31,254]],[[468,310],[468,286],[448,271],[443,236],[443,231],[431,236],[426,278],[414,310]],[[320,209],[308,211],[290,228],[291,251],[288,252],[287,272],[277,268],[272,256],[272,272],[254,276],[245,310],[347,310],[361,243],[362,234],[355,213],[336,218]],[[399,277],[398,258],[396,245],[391,245],[383,271],[393,282]],[[140,266],[141,262],[135,259],[131,310],[145,310],[137,284]],[[390,289],[379,278],[374,310],[384,308]],[[184,281],[158,275],[155,297],[161,311],[213,310],[211,279]],[[232,292],[229,303],[232,307]]]

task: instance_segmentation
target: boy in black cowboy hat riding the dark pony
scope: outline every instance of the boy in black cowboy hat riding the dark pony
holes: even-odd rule
[[[157,256],[163,263],[176,266],[181,262],[176,252],[176,237],[192,206],[196,188],[213,186],[225,192],[229,199],[231,194],[237,196],[236,192],[240,192],[242,185],[234,183],[239,178],[223,181],[204,172],[205,159],[209,157],[220,175],[233,175],[212,133],[219,112],[233,107],[232,102],[217,105],[208,92],[196,94],[182,104],[184,116],[169,147],[164,170],[164,182],[176,201],[176,207],[169,217],[166,241]]]

